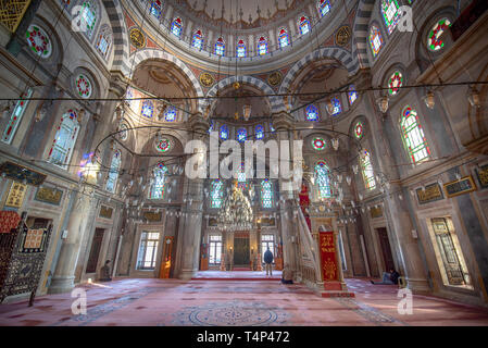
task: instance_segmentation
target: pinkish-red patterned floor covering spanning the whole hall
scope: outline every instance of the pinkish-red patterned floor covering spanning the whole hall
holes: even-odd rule
[[[32,308],[1,304],[0,326],[488,326],[487,309],[426,296],[414,296],[413,314],[401,315],[398,289],[367,279],[347,281],[355,299],[326,299],[302,285],[281,285],[278,274],[233,276],[84,284],[77,289],[86,291],[86,314],[73,314],[71,294],[43,296]]]

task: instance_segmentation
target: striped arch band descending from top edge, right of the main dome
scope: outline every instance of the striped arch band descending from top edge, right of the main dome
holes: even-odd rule
[[[375,7],[375,0],[361,0],[353,26],[352,54],[358,58],[361,69],[370,66],[367,58],[367,38],[370,21]]]

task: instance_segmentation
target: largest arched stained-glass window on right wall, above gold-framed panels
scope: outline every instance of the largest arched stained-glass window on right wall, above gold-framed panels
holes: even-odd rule
[[[430,156],[430,149],[428,148],[417,112],[411,107],[406,107],[403,110],[400,127],[403,135],[403,145],[412,163],[418,164],[427,160]]]

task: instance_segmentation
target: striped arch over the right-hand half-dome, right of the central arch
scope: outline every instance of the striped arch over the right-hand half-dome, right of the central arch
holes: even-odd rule
[[[281,87],[279,88],[279,94],[288,92],[291,83],[309,63],[324,58],[333,58],[338,60],[348,70],[350,75],[355,74],[359,70],[358,60],[353,59],[353,55],[351,55],[349,51],[337,47],[318,49],[303,57],[293,65],[293,67],[291,67],[286,77],[283,79]]]

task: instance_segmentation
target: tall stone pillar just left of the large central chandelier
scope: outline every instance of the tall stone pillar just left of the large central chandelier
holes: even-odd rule
[[[197,114],[190,117],[189,124],[193,130],[193,140],[207,141],[207,134],[210,128],[210,124],[202,117],[201,114]],[[178,236],[178,270],[177,274],[180,279],[191,279],[199,269],[200,261],[200,244],[202,233],[203,221],[203,179],[187,179],[186,187],[186,216],[182,223],[180,235]]]

